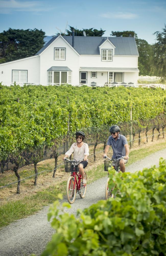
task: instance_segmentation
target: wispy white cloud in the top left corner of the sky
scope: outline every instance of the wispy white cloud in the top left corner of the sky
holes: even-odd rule
[[[42,4],[43,3],[43,4]],[[17,0],[0,0],[0,13],[9,14],[16,12],[47,12],[52,9],[48,4],[40,1],[17,1]]]

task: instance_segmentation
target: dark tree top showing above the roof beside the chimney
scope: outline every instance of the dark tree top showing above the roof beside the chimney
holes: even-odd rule
[[[67,33],[66,34],[62,33],[61,35],[62,36],[71,36],[73,30],[75,31],[75,36],[84,36],[83,31],[85,31],[86,36],[102,36],[104,34],[104,32],[106,31],[106,30],[102,30],[102,29],[97,30],[97,29],[93,29],[93,28],[89,28],[89,29],[83,28],[82,30],[79,30],[79,29],[76,29],[76,28],[70,26],[70,30],[66,30]],[[57,33],[57,35],[59,35],[59,33]]]

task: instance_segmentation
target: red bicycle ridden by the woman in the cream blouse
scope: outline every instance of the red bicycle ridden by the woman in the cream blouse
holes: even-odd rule
[[[80,160],[83,160],[83,158]],[[86,194],[86,185],[83,185],[82,176],[80,173],[78,174],[80,168],[80,160],[76,162],[70,161],[67,158],[64,159],[65,172],[71,172],[71,176],[67,181],[66,187],[67,199],[70,204],[73,204],[75,201],[76,193],[78,193],[81,198],[84,198]],[[87,179],[86,173],[84,176],[85,179]]]

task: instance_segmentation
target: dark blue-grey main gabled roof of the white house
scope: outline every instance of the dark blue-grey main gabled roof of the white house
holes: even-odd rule
[[[36,55],[45,50],[57,37],[58,36],[51,38]],[[72,36],[63,36],[63,38],[72,46]],[[74,49],[82,55],[99,55],[99,46],[106,39],[107,37],[75,36]],[[115,46],[115,55],[139,55],[134,37],[108,37],[108,39]]]

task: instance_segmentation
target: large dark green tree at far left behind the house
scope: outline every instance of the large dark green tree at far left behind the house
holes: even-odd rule
[[[44,45],[41,29],[12,29],[0,33],[0,63],[35,55]]]

